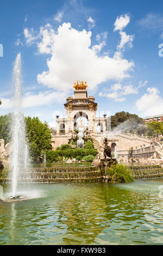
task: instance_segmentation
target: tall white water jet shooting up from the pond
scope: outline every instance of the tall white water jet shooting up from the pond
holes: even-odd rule
[[[24,117],[22,111],[22,69],[21,69],[21,54],[18,53],[13,70],[13,83],[14,83],[14,113],[12,120],[12,142],[13,151],[11,157],[11,182],[12,182],[12,197],[16,196],[17,183],[20,171],[26,168],[28,148],[26,144],[26,129],[24,124]]]

